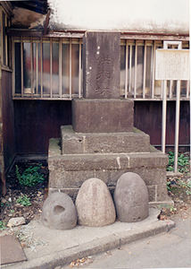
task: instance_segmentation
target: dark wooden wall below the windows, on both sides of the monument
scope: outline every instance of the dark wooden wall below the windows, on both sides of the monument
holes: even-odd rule
[[[168,102],[167,143],[174,143],[175,101]],[[134,126],[161,144],[162,101],[135,101]],[[17,154],[47,154],[50,138],[60,137],[60,126],[71,125],[70,100],[14,100]],[[179,143],[189,144],[189,102],[180,106]]]

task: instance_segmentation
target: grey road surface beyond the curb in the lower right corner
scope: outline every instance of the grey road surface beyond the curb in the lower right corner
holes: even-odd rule
[[[176,227],[170,232],[92,256],[92,263],[83,268],[191,268],[191,213],[174,221]]]

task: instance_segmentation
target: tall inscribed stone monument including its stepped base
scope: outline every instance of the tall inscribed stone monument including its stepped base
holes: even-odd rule
[[[49,194],[73,200],[88,178],[101,178],[113,192],[123,173],[145,181],[150,204],[169,203],[168,157],[133,127],[134,102],[120,98],[120,32],[87,31],[83,39],[83,96],[72,100],[72,126],[50,139]]]

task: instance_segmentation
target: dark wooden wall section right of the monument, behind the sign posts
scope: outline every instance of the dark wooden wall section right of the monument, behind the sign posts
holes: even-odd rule
[[[161,145],[162,101],[135,101],[134,126],[150,135],[151,144]],[[175,138],[176,101],[167,102],[166,144],[173,145]],[[189,145],[189,101],[180,102],[179,145]]]

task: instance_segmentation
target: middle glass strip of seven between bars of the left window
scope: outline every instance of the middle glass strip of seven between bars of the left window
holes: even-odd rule
[[[43,43],[43,93],[50,93],[50,44]]]

